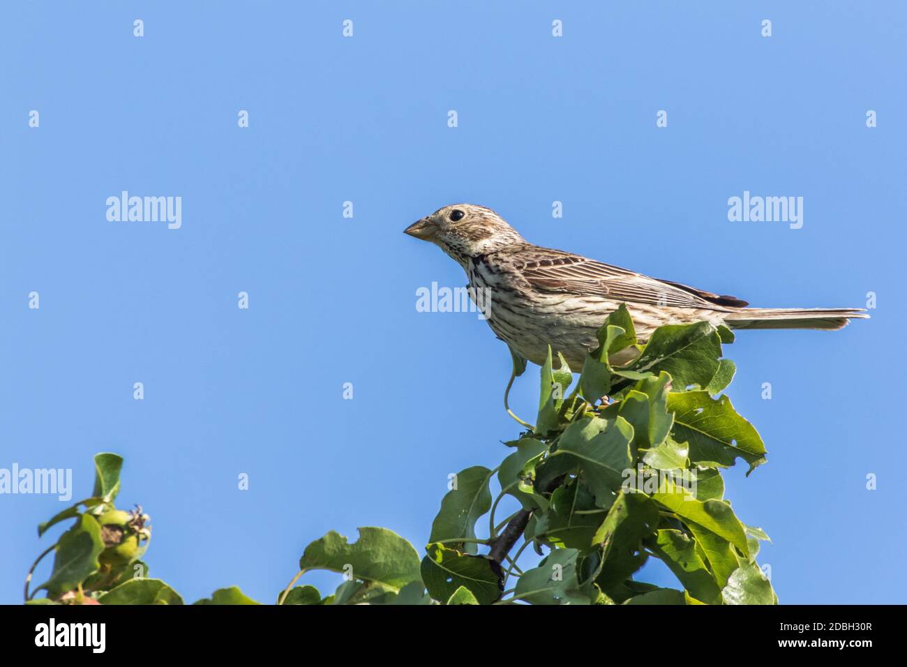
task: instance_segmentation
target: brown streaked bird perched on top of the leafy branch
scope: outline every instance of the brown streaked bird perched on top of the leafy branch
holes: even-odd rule
[[[869,317],[852,308],[747,308],[736,297],[533,245],[496,212],[476,204],[444,206],[404,231],[460,264],[473,299],[486,295],[483,314],[493,332],[540,366],[550,345],[555,359],[560,352],[571,368],[581,368],[599,346],[599,329],[621,303],[640,344],[658,327],[700,320],[729,329],[834,330]]]

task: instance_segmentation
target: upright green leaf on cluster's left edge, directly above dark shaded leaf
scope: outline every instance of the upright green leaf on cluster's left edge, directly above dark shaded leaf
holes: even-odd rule
[[[434,517],[429,542],[443,542],[453,539],[475,539],[475,522],[492,508],[492,494],[488,483],[493,472],[484,466],[473,466],[457,473],[456,488],[444,495],[441,510]],[[476,554],[476,544],[463,546],[448,544]]]

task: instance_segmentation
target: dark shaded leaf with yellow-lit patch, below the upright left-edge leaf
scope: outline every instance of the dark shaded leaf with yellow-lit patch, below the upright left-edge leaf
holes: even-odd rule
[[[485,556],[461,554],[444,544],[428,544],[422,559],[422,581],[435,600],[449,600],[460,586],[473,593],[480,604],[491,604],[501,597],[500,566]]]

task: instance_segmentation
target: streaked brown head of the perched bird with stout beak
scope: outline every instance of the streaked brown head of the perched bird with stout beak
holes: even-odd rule
[[[404,231],[416,239],[431,241],[461,264],[468,257],[523,242],[522,236],[500,215],[475,204],[444,206]]]

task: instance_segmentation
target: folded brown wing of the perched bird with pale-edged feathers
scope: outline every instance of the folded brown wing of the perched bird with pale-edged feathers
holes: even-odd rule
[[[561,250],[538,249],[521,253],[516,268],[535,289],[650,303],[679,308],[735,309],[746,307],[736,297],[713,294],[670,280],[589,260]]]

